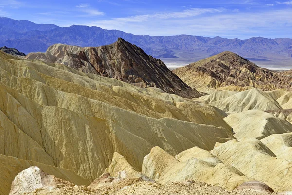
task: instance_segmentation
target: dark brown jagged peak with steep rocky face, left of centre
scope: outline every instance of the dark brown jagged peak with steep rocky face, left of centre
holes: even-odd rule
[[[119,38],[101,47],[55,44],[46,53],[30,53],[26,59],[61,63],[85,73],[115,78],[139,87],[157,87],[185,98],[201,96],[173,74],[165,64],[141,48]]]

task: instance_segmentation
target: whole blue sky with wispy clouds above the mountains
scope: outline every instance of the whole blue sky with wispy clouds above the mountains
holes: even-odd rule
[[[0,16],[137,35],[292,38],[290,0],[1,0]]]

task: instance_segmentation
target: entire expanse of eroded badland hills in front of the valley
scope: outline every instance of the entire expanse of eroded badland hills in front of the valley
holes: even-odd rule
[[[0,51],[0,195],[292,191],[289,72],[224,52],[174,73],[123,39]]]

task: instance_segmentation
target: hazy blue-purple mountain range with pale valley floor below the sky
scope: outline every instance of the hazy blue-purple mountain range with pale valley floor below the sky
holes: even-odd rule
[[[118,37],[160,59],[194,62],[229,50],[252,61],[275,63],[278,60],[285,61],[286,65],[292,64],[292,39],[289,38],[253,37],[240,40],[191,35],[141,36],[99,27],[76,25],[58,27],[0,17],[0,46],[17,48],[24,53],[45,52],[55,43],[97,47],[112,44]]]

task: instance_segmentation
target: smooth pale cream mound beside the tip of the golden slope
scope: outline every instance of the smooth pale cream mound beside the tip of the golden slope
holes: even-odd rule
[[[261,110],[234,113],[224,120],[233,128],[237,140],[248,138],[260,140],[272,134],[292,132],[291,123]]]

